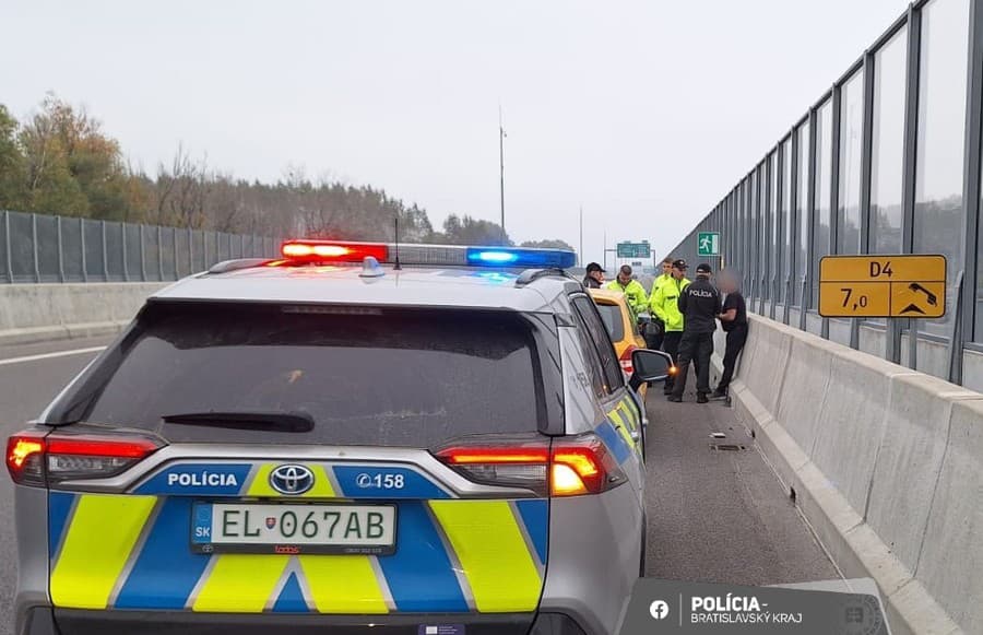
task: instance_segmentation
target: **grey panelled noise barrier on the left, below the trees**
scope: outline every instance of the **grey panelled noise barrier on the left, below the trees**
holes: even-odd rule
[[[230,258],[276,255],[280,239],[0,212],[0,283],[178,280]]]

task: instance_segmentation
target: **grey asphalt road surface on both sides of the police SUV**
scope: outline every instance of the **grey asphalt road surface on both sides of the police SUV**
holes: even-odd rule
[[[0,346],[0,433],[38,415],[109,339]],[[67,353],[67,354],[62,354]],[[694,396],[668,403],[649,398],[648,575],[663,579],[747,585],[834,579],[818,546],[754,439],[720,402]],[[721,432],[725,439],[710,435]],[[719,451],[711,443],[743,445]],[[16,584],[13,485],[0,477],[0,635],[13,630]]]

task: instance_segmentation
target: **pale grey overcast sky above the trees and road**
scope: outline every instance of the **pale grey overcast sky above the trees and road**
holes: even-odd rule
[[[601,259],[672,248],[907,8],[901,0],[0,0],[0,103],[84,104],[155,170],[179,142],[304,166]],[[13,20],[10,20],[13,16]]]

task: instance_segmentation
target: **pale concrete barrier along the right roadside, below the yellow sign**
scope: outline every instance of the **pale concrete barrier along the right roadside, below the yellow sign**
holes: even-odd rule
[[[734,405],[830,556],[896,634],[983,633],[983,395],[748,317]]]

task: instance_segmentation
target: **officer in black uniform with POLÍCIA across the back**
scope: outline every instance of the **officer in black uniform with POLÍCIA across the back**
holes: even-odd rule
[[[679,310],[685,316],[683,341],[679,343],[679,363],[670,401],[683,401],[690,362],[697,374],[697,402],[709,401],[707,393],[710,392],[710,355],[713,354],[716,316],[722,313],[720,292],[710,282],[711,273],[709,264],[698,266],[696,282],[687,286],[679,296]]]

